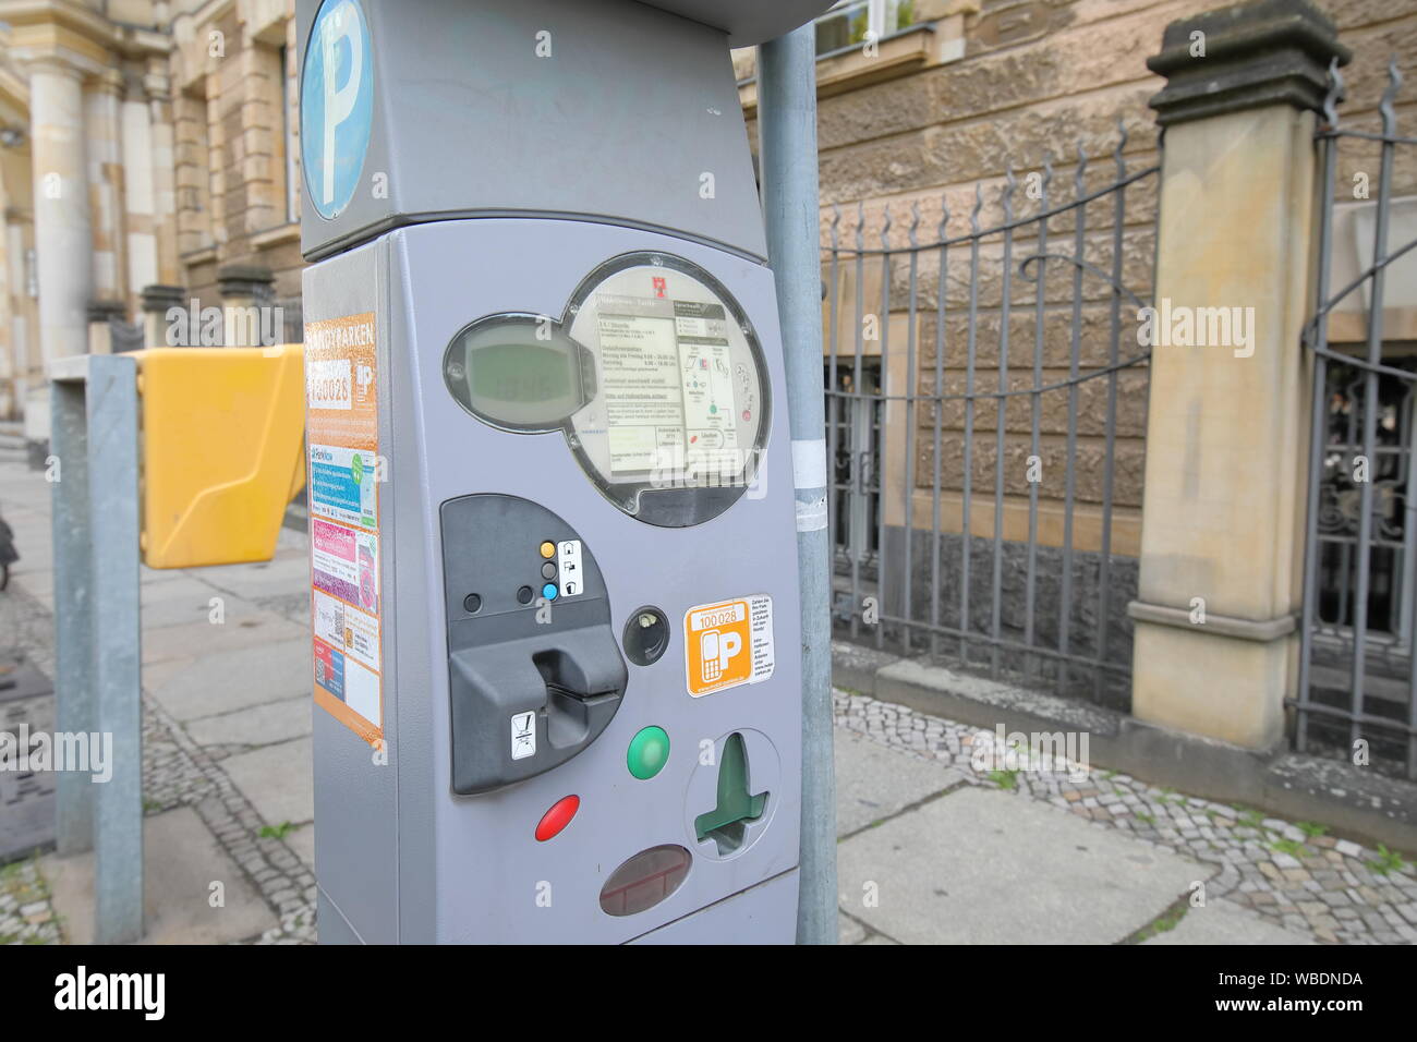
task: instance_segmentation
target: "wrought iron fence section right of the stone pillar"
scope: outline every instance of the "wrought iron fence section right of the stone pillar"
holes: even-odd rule
[[[1417,138],[1397,132],[1400,86],[1394,62],[1379,132],[1340,128],[1343,79],[1335,62],[1316,135],[1318,267],[1304,330],[1314,357],[1308,532],[1291,705],[1297,750],[1417,780],[1417,332],[1410,327],[1417,238],[1389,241],[1400,204],[1408,220],[1417,214],[1407,206],[1417,200],[1394,194],[1397,147]],[[1339,183],[1352,186],[1352,203],[1339,203]],[[1356,275],[1335,264],[1343,259],[1340,225],[1350,233],[1342,238],[1352,244]]]

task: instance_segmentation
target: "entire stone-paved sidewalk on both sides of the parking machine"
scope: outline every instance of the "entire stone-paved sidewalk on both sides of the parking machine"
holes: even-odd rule
[[[0,462],[0,513],[24,554],[0,635],[52,675],[43,478]],[[149,940],[309,943],[305,536],[268,564],[142,578]],[[1379,851],[1105,771],[990,773],[988,732],[835,707],[846,943],[1417,940],[1417,876]],[[0,941],[86,940],[91,878],[84,858],[0,869]]]

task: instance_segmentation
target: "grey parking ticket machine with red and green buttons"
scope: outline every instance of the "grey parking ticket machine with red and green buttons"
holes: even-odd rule
[[[828,6],[299,0],[322,941],[792,941],[792,456],[730,47]]]

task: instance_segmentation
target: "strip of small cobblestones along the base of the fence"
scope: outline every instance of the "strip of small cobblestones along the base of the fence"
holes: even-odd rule
[[[1013,790],[1214,865],[1207,900],[1226,897],[1321,943],[1417,943],[1417,869],[1396,855],[1115,771],[981,770],[996,744],[992,732],[842,690],[833,703],[839,727],[948,764],[969,785]]]

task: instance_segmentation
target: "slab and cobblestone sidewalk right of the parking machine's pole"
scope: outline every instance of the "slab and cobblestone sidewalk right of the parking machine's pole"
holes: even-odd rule
[[[867,696],[835,710],[846,941],[1417,941],[1417,870],[1396,855],[1114,771],[998,770],[993,733]],[[887,879],[907,880],[903,907]]]

